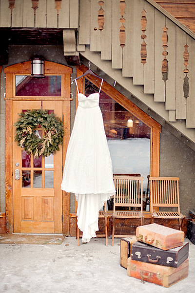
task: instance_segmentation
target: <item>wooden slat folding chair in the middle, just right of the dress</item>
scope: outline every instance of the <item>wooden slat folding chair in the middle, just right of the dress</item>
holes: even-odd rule
[[[127,237],[127,235],[115,234],[116,218],[141,219],[141,225],[143,225],[143,180],[144,178],[140,176],[114,176],[116,195],[114,195],[114,209],[112,215],[112,246],[114,246],[115,237]],[[116,208],[123,209],[124,207],[129,210],[116,210]]]

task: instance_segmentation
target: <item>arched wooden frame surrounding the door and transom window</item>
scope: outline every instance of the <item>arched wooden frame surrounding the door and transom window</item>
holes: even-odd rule
[[[4,69],[6,74],[5,96],[5,213],[6,233],[13,233],[13,101],[26,100],[55,100],[63,101],[63,164],[70,138],[70,75],[72,68],[49,61],[45,61],[45,75],[58,74],[62,76],[60,97],[16,97],[15,75],[31,75],[31,61],[8,66]],[[70,195],[63,191],[62,194],[62,232],[69,234]]]

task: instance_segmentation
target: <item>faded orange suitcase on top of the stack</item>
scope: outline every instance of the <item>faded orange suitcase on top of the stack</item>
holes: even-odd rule
[[[183,231],[158,224],[139,226],[136,229],[136,238],[138,241],[165,251],[183,245],[184,236]]]

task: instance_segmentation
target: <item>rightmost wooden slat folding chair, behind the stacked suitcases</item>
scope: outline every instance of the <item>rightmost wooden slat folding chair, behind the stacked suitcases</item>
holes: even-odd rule
[[[151,213],[154,219],[178,219],[181,230],[185,216],[180,213],[179,207],[179,178],[177,177],[150,177]],[[156,208],[166,208],[175,211],[156,211]]]

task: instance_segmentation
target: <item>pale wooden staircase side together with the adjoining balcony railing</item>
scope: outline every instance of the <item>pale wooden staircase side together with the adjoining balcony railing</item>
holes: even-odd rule
[[[195,34],[153,0],[3,0],[1,28],[62,28],[82,55],[195,149]]]

